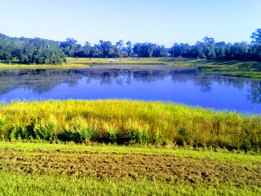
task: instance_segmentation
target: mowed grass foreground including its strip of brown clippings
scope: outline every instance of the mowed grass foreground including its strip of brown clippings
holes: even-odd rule
[[[1,195],[259,195],[261,156],[0,142]]]

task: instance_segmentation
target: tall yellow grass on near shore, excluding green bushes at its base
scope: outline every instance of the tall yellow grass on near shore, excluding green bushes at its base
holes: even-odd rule
[[[6,119],[2,131],[5,138],[13,124],[30,129],[36,121],[45,124],[52,121],[54,134],[59,135],[66,126],[73,125],[75,118],[80,118],[82,124],[95,126],[100,136],[107,135],[103,125],[113,125],[121,137],[127,136],[130,126],[134,125],[133,129],[146,127],[150,142],[160,132],[163,141],[183,145],[261,148],[259,115],[218,112],[173,103],[129,100],[13,102],[0,107],[0,116]]]

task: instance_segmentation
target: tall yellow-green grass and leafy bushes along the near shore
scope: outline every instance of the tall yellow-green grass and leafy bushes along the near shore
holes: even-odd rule
[[[128,100],[14,102],[0,107],[3,139],[212,146],[259,151],[261,118]]]

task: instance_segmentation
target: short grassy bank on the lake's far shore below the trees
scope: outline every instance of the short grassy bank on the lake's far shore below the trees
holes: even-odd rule
[[[18,61],[2,61],[0,68],[82,68],[96,65],[143,65],[139,68],[152,68],[153,65],[177,67],[198,67],[203,72],[212,72],[225,76],[261,78],[261,63],[255,61],[206,60],[193,58],[67,58],[62,65],[24,65]],[[150,65],[149,67],[145,67]],[[152,67],[151,67],[152,66]],[[132,68],[130,66],[129,68]]]

